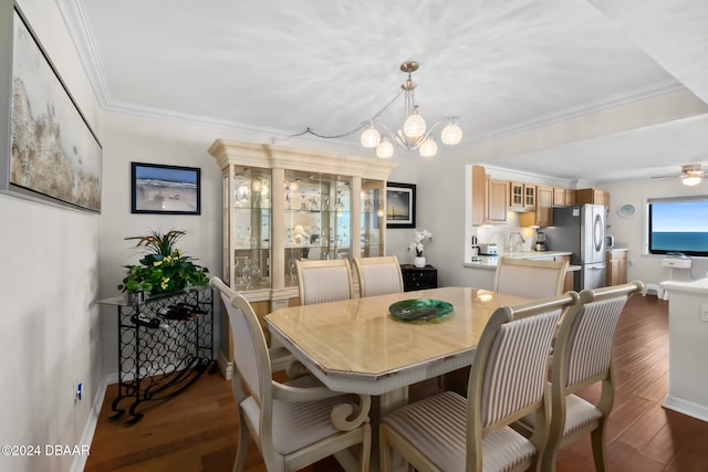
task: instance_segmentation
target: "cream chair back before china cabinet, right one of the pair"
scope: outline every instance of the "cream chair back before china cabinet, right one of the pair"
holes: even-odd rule
[[[395,255],[354,258],[360,296],[403,292],[400,264]]]

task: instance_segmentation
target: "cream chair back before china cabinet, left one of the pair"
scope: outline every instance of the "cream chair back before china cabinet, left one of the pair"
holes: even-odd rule
[[[354,296],[352,269],[346,259],[295,261],[300,304],[336,302]]]

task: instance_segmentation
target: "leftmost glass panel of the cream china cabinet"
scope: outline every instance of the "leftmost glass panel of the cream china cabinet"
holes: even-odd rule
[[[232,178],[232,286],[270,286],[271,177],[269,169],[235,166]]]

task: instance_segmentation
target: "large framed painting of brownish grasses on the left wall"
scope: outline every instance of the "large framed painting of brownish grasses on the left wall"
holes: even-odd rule
[[[0,18],[0,191],[101,212],[101,143],[19,7]]]

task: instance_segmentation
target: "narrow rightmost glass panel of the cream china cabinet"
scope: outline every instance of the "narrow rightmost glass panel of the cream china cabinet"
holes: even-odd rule
[[[362,256],[384,255],[384,212],[385,182],[383,180],[362,179]]]

